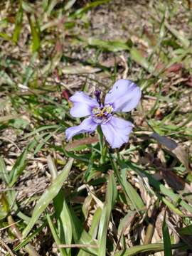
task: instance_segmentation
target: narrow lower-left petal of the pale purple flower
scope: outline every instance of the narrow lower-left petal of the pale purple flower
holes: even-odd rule
[[[75,127],[70,127],[65,130],[65,135],[67,140],[70,140],[73,136],[85,132],[94,132],[95,129],[97,128],[97,125],[93,120],[92,117],[87,117],[84,119],[80,125],[75,126]]]

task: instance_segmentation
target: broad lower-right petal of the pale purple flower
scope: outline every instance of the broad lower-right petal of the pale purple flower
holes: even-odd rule
[[[102,132],[112,149],[119,148],[129,141],[133,124],[119,117],[112,117],[106,124],[101,124]]]

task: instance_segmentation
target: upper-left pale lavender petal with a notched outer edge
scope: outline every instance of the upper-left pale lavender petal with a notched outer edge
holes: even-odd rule
[[[92,99],[85,92],[75,92],[75,95],[70,97],[73,102],[73,107],[70,109],[70,114],[73,117],[86,117],[91,114],[93,107],[99,107],[97,100]]]

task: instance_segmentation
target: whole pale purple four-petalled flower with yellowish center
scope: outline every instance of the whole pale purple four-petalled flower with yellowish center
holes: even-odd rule
[[[112,149],[119,148],[127,143],[133,124],[129,121],[114,117],[114,112],[129,112],[137,106],[142,92],[140,88],[130,80],[120,79],[114,83],[112,90],[105,96],[102,105],[100,91],[95,91],[96,99],[92,99],[85,92],[75,92],[70,97],[73,107],[70,114],[73,117],[87,117],[80,125],[66,129],[67,139],[76,134],[94,132],[98,125]]]

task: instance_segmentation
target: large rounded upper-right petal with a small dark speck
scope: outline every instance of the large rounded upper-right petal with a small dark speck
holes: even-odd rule
[[[129,112],[137,106],[142,96],[140,88],[131,80],[114,82],[112,90],[105,97],[105,105],[112,103],[114,111]]]

